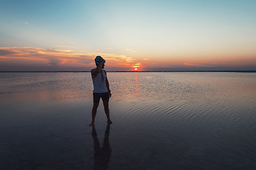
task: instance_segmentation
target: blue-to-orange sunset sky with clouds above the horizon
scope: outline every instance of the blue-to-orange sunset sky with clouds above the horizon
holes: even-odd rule
[[[0,0],[0,71],[256,70],[255,0]]]

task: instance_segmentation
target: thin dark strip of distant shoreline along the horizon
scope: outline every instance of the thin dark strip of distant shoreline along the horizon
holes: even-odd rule
[[[5,72],[5,71],[0,71]],[[6,72],[18,72],[18,71],[6,71]],[[21,71],[29,72],[29,71]],[[90,72],[90,71],[31,71],[31,72]],[[107,71],[107,72],[256,72],[256,70],[248,71]]]

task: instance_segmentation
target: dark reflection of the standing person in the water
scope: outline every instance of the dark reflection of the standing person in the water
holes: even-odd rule
[[[107,169],[108,163],[110,162],[110,156],[112,149],[109,142],[110,136],[110,123],[107,123],[105,131],[104,142],[102,148],[100,148],[100,142],[97,138],[97,132],[95,125],[92,125],[92,139],[94,143],[94,170]]]

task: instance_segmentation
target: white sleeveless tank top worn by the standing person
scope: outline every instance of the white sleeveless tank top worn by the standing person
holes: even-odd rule
[[[105,71],[102,69],[102,74],[98,73],[97,77],[92,79],[94,87],[93,93],[106,93],[108,91],[106,86],[106,77]]]

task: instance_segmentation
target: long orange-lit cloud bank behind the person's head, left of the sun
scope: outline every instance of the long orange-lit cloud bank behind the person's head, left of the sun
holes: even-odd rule
[[[97,55],[101,55],[107,61],[107,67],[132,67],[132,62],[134,62],[132,57],[117,54],[73,52],[72,50],[36,47],[0,47],[1,66],[3,66],[2,68],[4,66],[7,68],[8,65],[9,71],[11,71],[11,68],[17,67],[17,65],[18,67],[26,67],[26,71],[29,71],[30,67],[36,65],[54,70],[58,68],[65,70],[71,67],[80,69],[85,67],[91,68],[92,65],[94,67],[94,59]],[[2,68],[0,68],[0,71],[3,71]]]

